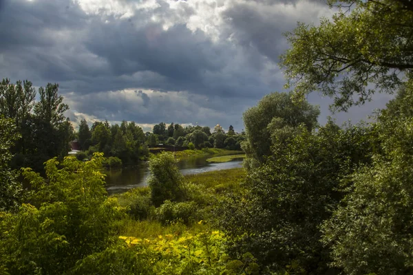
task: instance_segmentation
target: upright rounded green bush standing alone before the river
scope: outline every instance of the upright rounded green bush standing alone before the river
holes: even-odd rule
[[[176,162],[173,153],[161,152],[158,155],[151,155],[149,160],[151,176],[147,182],[151,188],[154,206],[160,206],[167,199],[182,201],[186,197],[183,177]]]

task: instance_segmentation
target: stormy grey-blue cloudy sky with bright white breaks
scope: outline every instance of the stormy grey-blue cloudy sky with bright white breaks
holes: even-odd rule
[[[0,77],[59,83],[75,127],[85,118],[242,131],[246,109],[286,91],[284,33],[332,12],[322,0],[0,0]],[[358,122],[389,99],[332,114],[330,98],[308,96],[320,124]]]

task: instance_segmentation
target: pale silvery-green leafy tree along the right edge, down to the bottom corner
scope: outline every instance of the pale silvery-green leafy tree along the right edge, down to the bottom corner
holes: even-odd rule
[[[322,228],[333,265],[346,274],[410,274],[413,270],[413,83],[380,111],[371,166]]]

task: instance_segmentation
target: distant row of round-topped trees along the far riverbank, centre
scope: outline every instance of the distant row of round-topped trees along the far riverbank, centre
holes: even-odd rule
[[[148,144],[168,144],[189,148],[226,148],[227,150],[241,150],[241,143],[245,140],[245,133],[236,133],[232,125],[225,133],[222,126],[217,124],[213,132],[209,126],[186,126],[180,124],[165,124],[161,122],[153,126],[152,133],[146,133]]]

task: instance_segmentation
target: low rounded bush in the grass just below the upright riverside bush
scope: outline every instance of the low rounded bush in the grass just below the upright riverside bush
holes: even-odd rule
[[[156,219],[162,223],[182,221],[188,225],[196,220],[196,210],[197,206],[193,201],[173,203],[167,200],[162,206],[156,208]]]

